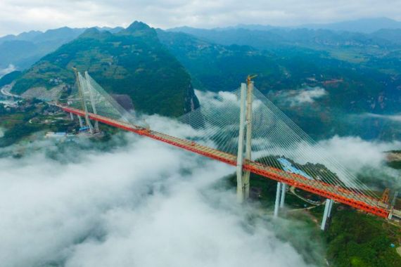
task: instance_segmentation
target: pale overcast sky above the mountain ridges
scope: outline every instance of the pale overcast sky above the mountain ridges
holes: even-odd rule
[[[300,25],[357,18],[401,20],[400,0],[0,0],[0,36],[56,27]]]

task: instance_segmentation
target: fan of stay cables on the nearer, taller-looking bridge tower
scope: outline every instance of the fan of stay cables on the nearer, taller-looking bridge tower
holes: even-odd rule
[[[211,94],[211,93],[201,93]],[[201,101],[197,110],[179,117],[210,139],[215,148],[236,155],[240,114],[240,89],[219,92]],[[352,191],[360,200],[376,204],[378,196],[332,157],[258,89],[253,91],[252,157],[256,162]],[[346,151],[346,149],[344,149]],[[358,197],[357,197],[358,198]],[[369,200],[368,200],[369,201]]]

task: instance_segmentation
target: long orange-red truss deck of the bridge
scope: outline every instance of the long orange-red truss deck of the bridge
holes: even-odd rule
[[[76,115],[84,116],[84,111],[77,110],[75,108],[69,108],[62,105],[58,105],[66,112],[72,112]],[[103,117],[101,115],[95,115],[89,113],[89,118],[94,119],[98,122],[108,124],[110,126],[115,126],[126,131],[131,131],[137,133],[141,136],[148,136],[158,141],[174,145],[191,152],[195,152],[199,155],[205,157],[210,157],[212,159],[217,159],[221,162],[236,166],[236,156],[231,155],[220,150],[209,148],[205,145],[200,145],[193,141],[187,141],[182,138],[177,138],[174,136],[169,136],[165,133],[160,133],[158,131],[152,131],[144,129],[143,127],[129,124],[126,122],[120,122],[115,119],[109,119],[108,117]],[[322,181],[310,180],[298,174],[291,174],[289,172],[283,171],[281,169],[276,169],[269,167],[267,165],[261,164],[259,162],[246,161],[243,164],[243,169],[253,172],[254,174],[259,174],[269,179],[286,183],[288,185],[293,185],[296,188],[306,190],[310,193],[320,195],[322,197],[330,198],[336,202],[347,204],[350,207],[355,207],[357,209],[362,209],[376,216],[381,216],[387,218],[390,214],[390,210],[386,207],[386,204],[380,202],[379,200],[369,197],[367,195],[362,195],[355,193],[346,188],[340,188],[339,186],[330,185]],[[398,212],[398,211],[396,211]]]

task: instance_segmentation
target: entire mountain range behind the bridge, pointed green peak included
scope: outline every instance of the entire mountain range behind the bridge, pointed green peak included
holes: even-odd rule
[[[26,35],[39,38],[36,32]],[[75,66],[89,70],[108,92],[129,96],[136,110],[177,116],[198,106],[192,85],[230,91],[257,74],[257,88],[314,137],[392,139],[401,138],[401,126],[387,119],[401,113],[400,58],[400,29],[154,30],[135,22],[127,29],[86,30],[22,76],[2,80],[15,80],[14,93],[68,91]]]

